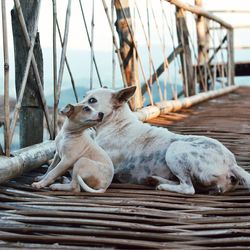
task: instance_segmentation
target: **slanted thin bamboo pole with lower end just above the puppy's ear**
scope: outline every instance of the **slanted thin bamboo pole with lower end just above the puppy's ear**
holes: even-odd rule
[[[60,99],[60,94],[61,94],[62,79],[63,79],[64,65],[65,65],[65,57],[66,57],[66,50],[67,50],[68,36],[69,36],[70,15],[71,15],[71,0],[68,0],[65,27],[64,27],[64,36],[63,36],[63,47],[62,47],[62,51],[61,51],[61,60],[60,60],[59,73],[58,73],[58,79],[57,79],[57,98],[56,98],[57,102],[55,105],[56,110],[58,109],[59,99]]]

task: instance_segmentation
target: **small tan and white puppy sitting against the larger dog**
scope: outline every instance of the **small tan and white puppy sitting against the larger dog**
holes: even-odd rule
[[[61,114],[66,119],[55,139],[56,154],[53,162],[42,179],[32,186],[43,188],[51,185],[73,166],[72,181],[53,184],[50,186],[52,190],[80,192],[81,186],[86,192],[105,192],[113,179],[113,164],[88,131],[88,128],[101,122],[103,113],[78,103],[68,104],[61,110]]]

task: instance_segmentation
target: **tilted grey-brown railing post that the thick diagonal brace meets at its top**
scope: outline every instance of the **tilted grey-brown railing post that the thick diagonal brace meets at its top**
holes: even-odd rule
[[[185,83],[185,96],[195,95],[195,82],[193,74],[192,56],[189,45],[189,32],[185,18],[185,11],[176,7],[176,26],[178,42],[183,46],[181,56],[181,66]]]

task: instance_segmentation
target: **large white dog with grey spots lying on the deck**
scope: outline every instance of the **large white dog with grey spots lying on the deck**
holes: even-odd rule
[[[102,88],[89,91],[83,100],[104,113],[96,125],[96,141],[112,159],[118,181],[153,181],[159,190],[183,194],[199,189],[224,193],[239,182],[250,187],[250,174],[219,141],[177,135],[139,121],[126,103],[134,92],[135,87]]]

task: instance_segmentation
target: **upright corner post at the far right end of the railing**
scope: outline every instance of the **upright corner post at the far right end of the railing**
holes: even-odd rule
[[[228,85],[234,85],[235,64],[234,64],[234,30],[227,31],[227,63],[228,63]]]

